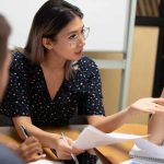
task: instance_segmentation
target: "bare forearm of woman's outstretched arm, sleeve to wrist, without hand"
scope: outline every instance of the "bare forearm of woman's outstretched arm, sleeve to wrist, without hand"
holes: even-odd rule
[[[112,132],[125,124],[136,114],[130,107],[120,110],[112,116],[91,116],[89,124],[104,132]]]

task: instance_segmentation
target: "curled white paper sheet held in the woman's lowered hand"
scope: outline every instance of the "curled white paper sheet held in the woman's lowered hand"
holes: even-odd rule
[[[87,126],[74,141],[73,147],[82,150],[99,145],[114,144],[126,140],[137,140],[147,136],[127,134],[119,132],[105,133],[93,126]]]

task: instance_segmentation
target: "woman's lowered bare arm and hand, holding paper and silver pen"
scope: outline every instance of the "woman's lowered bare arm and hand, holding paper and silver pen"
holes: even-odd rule
[[[15,129],[20,137],[24,140],[24,136],[21,131],[21,126],[23,125],[32,136],[36,137],[38,141],[42,143],[45,148],[55,149],[57,151],[57,155],[59,159],[62,160],[69,160],[71,159],[72,153],[72,140],[70,138],[67,138],[68,143],[66,143],[63,140],[61,140],[61,136],[57,133],[50,133],[47,131],[44,131],[36,126],[32,124],[31,117],[13,117],[13,122],[15,126]],[[73,152],[75,154],[81,153],[81,151],[75,150],[77,152]]]

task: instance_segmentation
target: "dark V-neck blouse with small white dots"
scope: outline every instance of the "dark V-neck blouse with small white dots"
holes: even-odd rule
[[[9,117],[30,116],[36,126],[67,126],[74,115],[105,115],[97,66],[83,57],[77,67],[51,99],[40,66],[15,52],[0,113]]]

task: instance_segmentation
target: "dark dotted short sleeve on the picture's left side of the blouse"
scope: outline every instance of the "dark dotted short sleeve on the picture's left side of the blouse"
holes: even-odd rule
[[[27,61],[22,54],[14,54],[10,68],[9,84],[0,106],[0,113],[9,116],[28,116]]]

